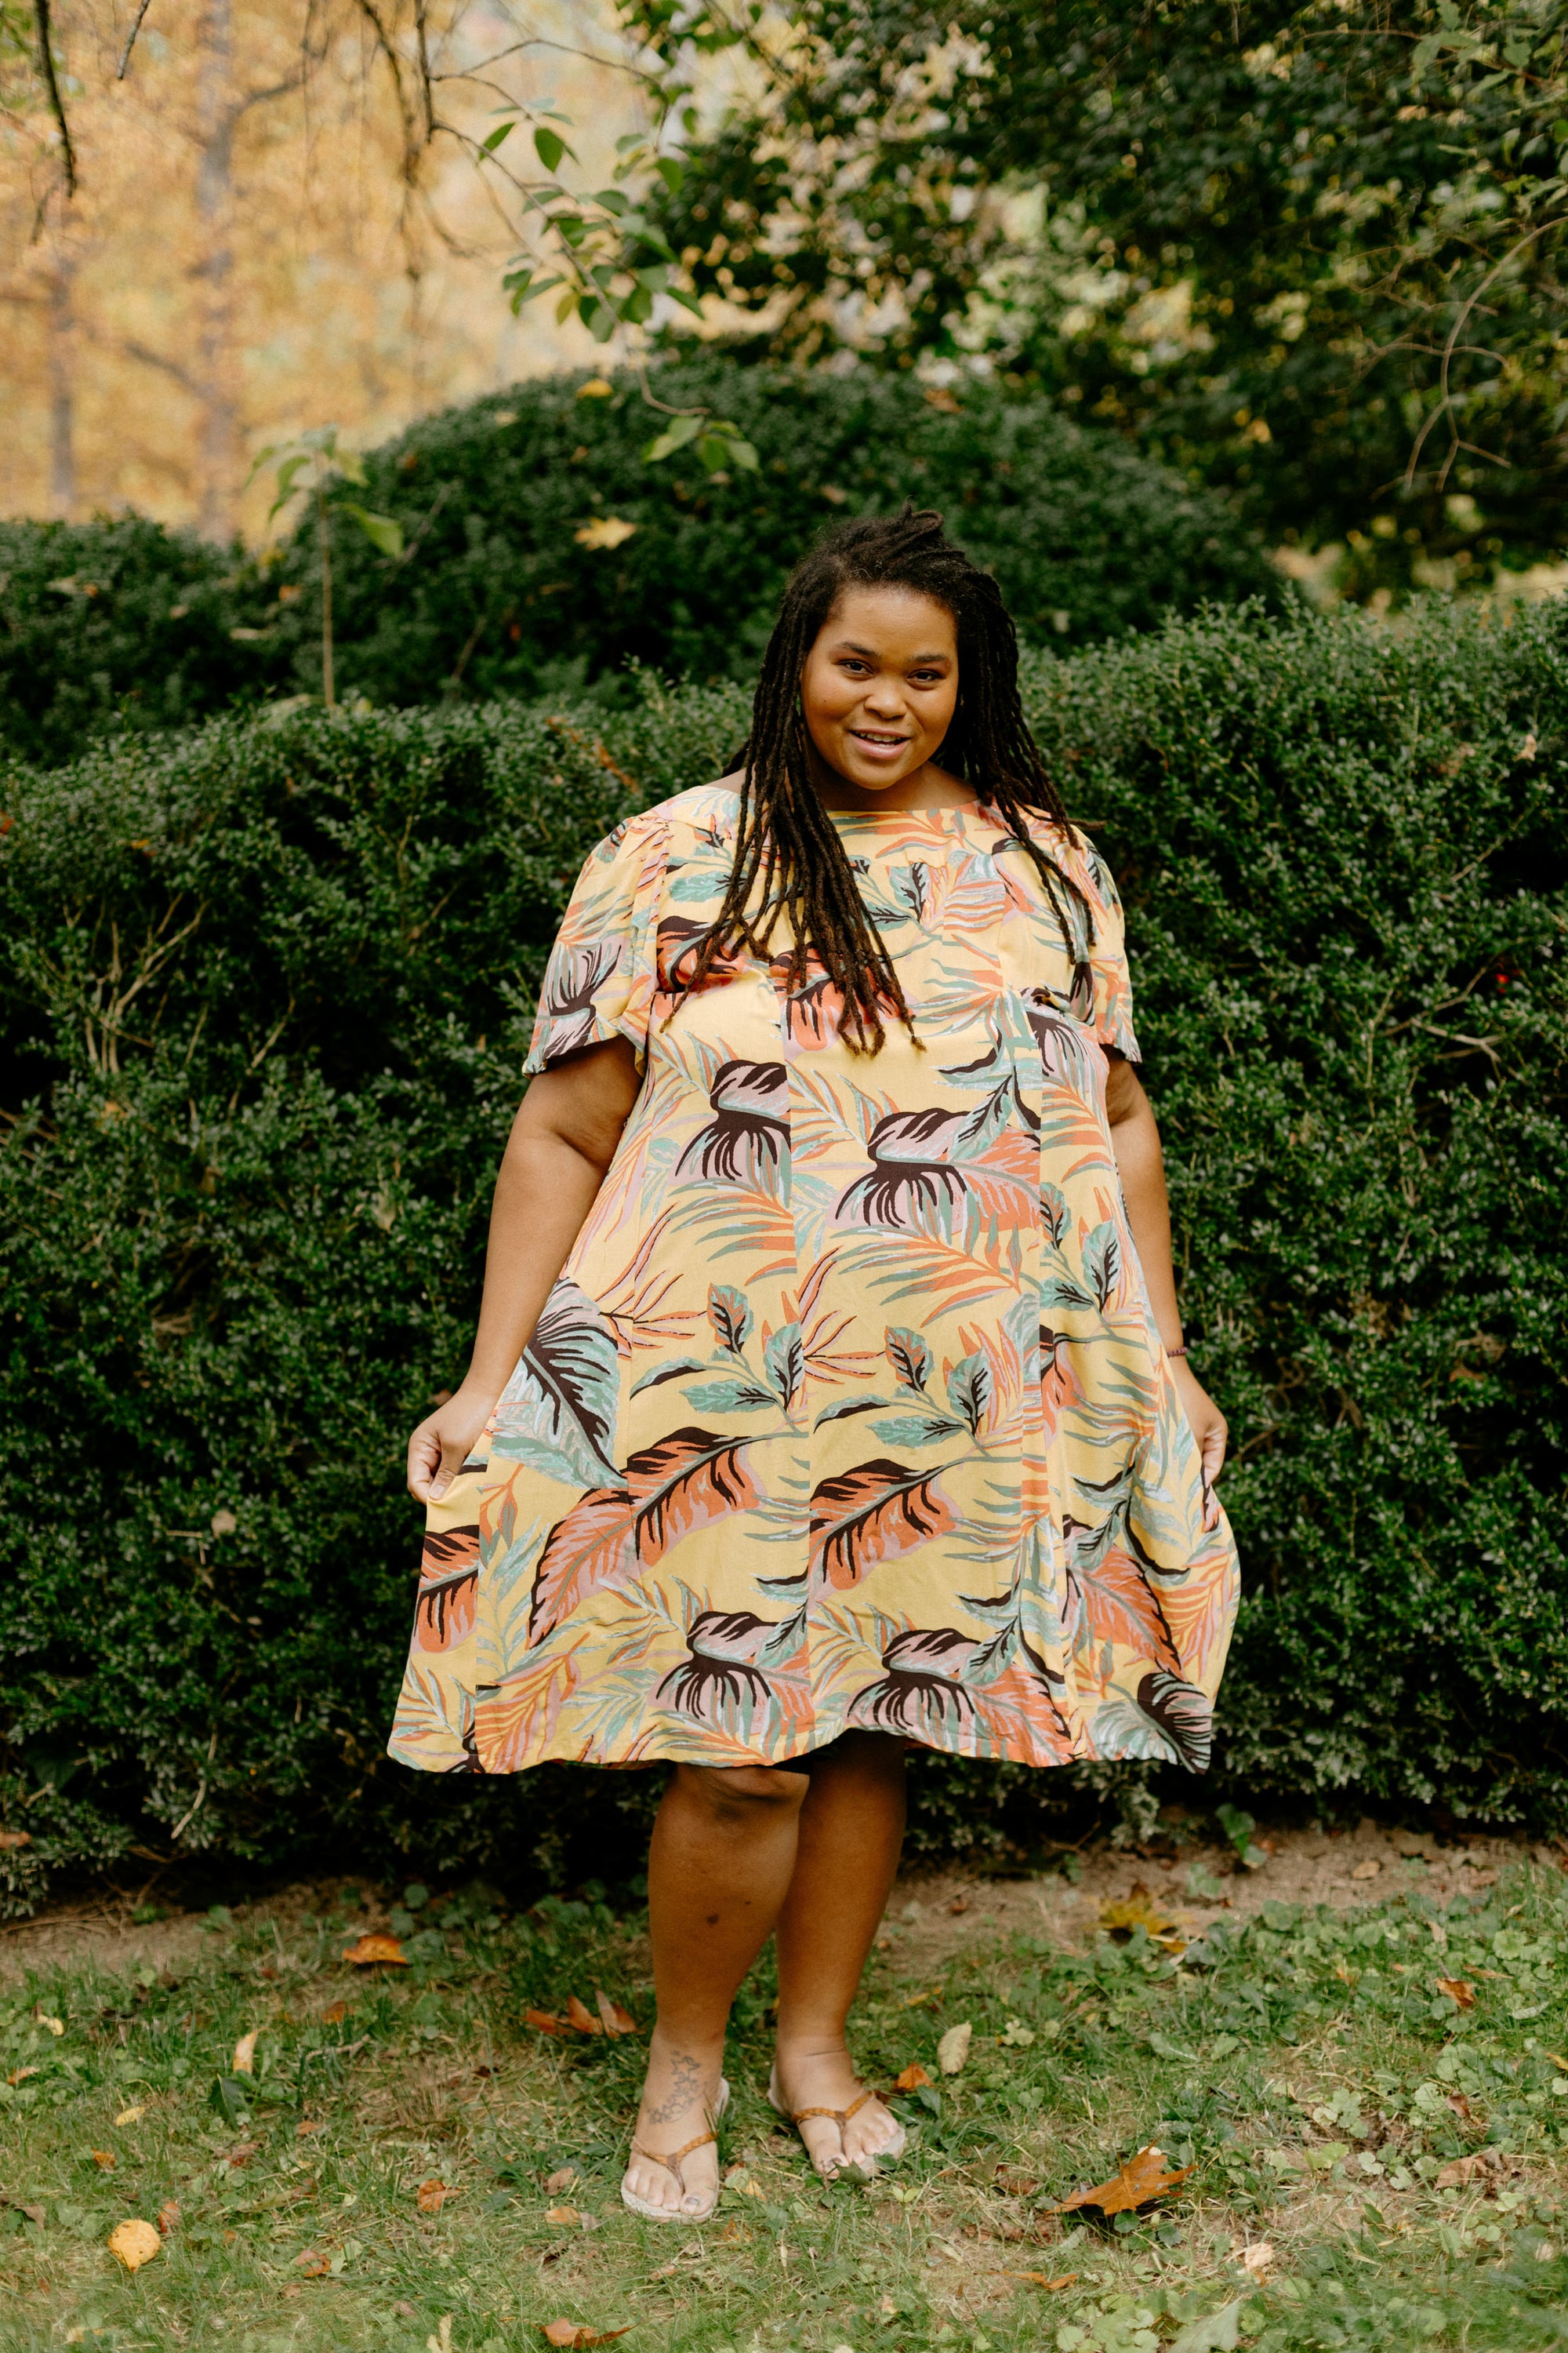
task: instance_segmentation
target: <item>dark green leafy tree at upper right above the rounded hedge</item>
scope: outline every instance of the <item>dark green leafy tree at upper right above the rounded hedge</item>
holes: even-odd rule
[[[625,14],[745,56],[649,191],[741,351],[987,365],[1363,595],[1561,551],[1563,0]]]

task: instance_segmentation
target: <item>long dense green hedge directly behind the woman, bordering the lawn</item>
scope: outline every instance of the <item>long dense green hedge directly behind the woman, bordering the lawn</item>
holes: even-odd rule
[[[1568,1819],[1563,619],[1211,614],[1037,659],[1027,699],[1126,892],[1234,1428],[1211,1788]],[[400,1459],[463,1360],[578,859],[741,718],[299,711],[0,791],[14,1901],[127,1842],[635,1849],[656,1777],[383,1760]],[[926,1847],[1027,1842],[1065,1777],[917,1791]]]

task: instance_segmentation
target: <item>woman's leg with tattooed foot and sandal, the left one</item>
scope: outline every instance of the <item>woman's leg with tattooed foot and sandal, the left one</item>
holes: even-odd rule
[[[679,2148],[712,2122],[729,2005],[790,1887],[806,1788],[804,1774],[766,1765],[677,1765],[670,1774],[649,1849],[658,2024],[637,2111],[644,2148]],[[684,2207],[708,2205],[717,2151],[696,2148],[682,2172]],[[682,2209],[663,2165],[632,2153],[625,2184],[649,2205]]]

